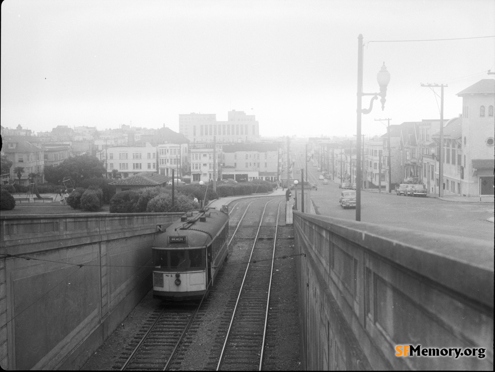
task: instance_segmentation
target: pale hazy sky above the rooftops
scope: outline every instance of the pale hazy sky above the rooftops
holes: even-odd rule
[[[179,114],[235,109],[262,136],[352,136],[359,34],[364,92],[379,90],[383,62],[391,74],[363,134],[385,133],[379,118],[439,118],[421,83],[448,85],[450,118],[456,93],[494,77],[494,0],[6,0],[1,125],[178,132]],[[458,38],[473,39],[382,42]]]

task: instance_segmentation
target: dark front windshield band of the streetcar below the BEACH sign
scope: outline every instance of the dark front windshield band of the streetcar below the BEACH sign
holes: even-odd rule
[[[203,269],[205,267],[204,250],[153,249],[153,264],[155,267],[159,267],[162,269]]]

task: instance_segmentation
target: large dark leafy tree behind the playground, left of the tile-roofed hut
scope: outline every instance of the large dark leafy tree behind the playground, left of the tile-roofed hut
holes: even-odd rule
[[[65,159],[61,164],[50,169],[45,168],[45,179],[51,184],[60,184],[64,177],[70,177],[77,185],[87,178],[102,178],[105,173],[103,162],[90,155],[78,155]]]

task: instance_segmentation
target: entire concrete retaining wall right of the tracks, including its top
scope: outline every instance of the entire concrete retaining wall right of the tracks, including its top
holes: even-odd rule
[[[492,370],[492,243],[294,212],[303,368]],[[397,345],[485,357],[396,356]]]

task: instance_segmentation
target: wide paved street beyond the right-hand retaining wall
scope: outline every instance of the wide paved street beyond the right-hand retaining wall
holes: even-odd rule
[[[310,164],[310,163],[308,163]],[[300,164],[302,166],[302,163]],[[298,166],[296,165],[296,169]],[[339,181],[318,180],[317,168],[309,165],[308,180],[318,185],[311,191],[316,214],[355,220],[354,209],[339,204]],[[300,177],[300,174],[297,174]],[[493,200],[493,199],[492,199]],[[361,221],[401,228],[494,241],[494,203],[462,203],[434,197],[406,197],[392,193],[361,191]]]

